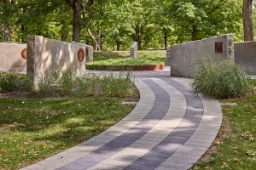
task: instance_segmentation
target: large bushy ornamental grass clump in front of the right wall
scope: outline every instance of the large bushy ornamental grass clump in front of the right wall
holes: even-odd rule
[[[250,78],[232,61],[220,65],[200,61],[191,86],[195,94],[216,99],[241,97],[252,90]]]

